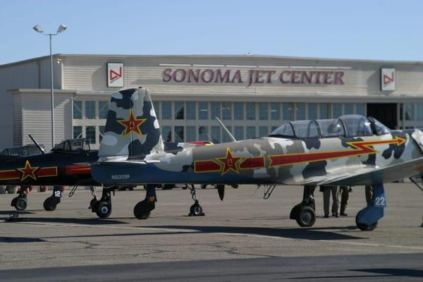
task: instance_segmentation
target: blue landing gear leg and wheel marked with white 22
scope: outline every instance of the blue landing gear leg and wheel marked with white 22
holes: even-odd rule
[[[355,216],[355,224],[361,231],[373,231],[379,219],[384,217],[386,197],[383,184],[372,185],[373,200]]]

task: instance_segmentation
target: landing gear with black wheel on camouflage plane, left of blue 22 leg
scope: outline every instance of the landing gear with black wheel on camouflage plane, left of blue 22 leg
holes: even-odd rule
[[[314,185],[305,185],[302,202],[291,209],[289,218],[295,219],[301,227],[311,227],[316,222],[314,189],[316,189]]]

